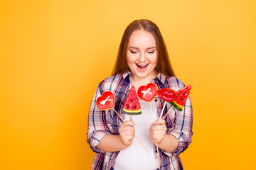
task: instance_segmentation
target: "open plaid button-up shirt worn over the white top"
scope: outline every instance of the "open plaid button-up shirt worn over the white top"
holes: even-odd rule
[[[104,91],[112,91],[115,99],[114,109],[124,119],[122,107],[129,93],[129,89],[132,86],[130,77],[130,72],[107,77],[107,79],[100,82],[100,84],[97,86],[95,95],[92,98],[88,116],[87,131],[87,142],[90,145],[90,148],[95,152],[95,159],[92,163],[92,169],[114,169],[114,160],[119,152],[102,152],[100,149],[97,149],[97,145],[106,135],[119,135],[119,125],[122,123],[122,120],[116,113],[114,113],[113,109],[102,111],[97,108],[96,99],[99,96],[102,96]],[[167,79],[164,74],[161,73],[157,74],[152,82],[156,84],[159,89],[169,88],[173,89],[174,91],[178,91],[185,86],[183,82],[176,77],[170,77]],[[159,96],[156,96],[154,102],[156,102],[157,115],[159,117],[164,106],[164,101],[161,100]],[[164,109],[164,115],[167,113],[169,108],[171,108],[171,105],[167,103]],[[172,109],[169,112],[169,115],[166,116],[165,120],[167,128],[166,134],[174,135],[174,137],[176,137],[178,140],[179,145],[178,149],[172,153],[159,149],[160,159],[158,159],[157,152],[155,152],[154,156],[156,158],[156,169],[183,169],[181,159],[178,155],[187,149],[188,145],[191,143],[191,136],[193,134],[193,114],[190,98],[188,97],[183,111],[176,111],[176,109]]]

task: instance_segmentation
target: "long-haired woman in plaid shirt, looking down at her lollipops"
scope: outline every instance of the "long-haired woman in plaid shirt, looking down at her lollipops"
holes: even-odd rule
[[[183,169],[178,156],[191,143],[192,106],[188,97],[183,111],[172,109],[165,120],[153,122],[150,103],[141,101],[142,115],[122,113],[129,89],[153,82],[159,89],[178,91],[185,85],[175,77],[159,28],[149,20],[136,20],[124,30],[117,61],[111,77],[98,86],[88,117],[87,142],[95,153],[92,169]],[[114,110],[102,111],[96,99],[112,91]],[[164,101],[156,96],[151,102],[154,118],[159,118]],[[169,111],[168,104],[164,114]],[[134,135],[139,138],[145,149]],[[156,150],[156,141],[159,154]],[[159,157],[158,157],[159,155]]]

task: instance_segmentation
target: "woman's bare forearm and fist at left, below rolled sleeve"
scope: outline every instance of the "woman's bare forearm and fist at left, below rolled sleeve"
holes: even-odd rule
[[[97,148],[104,152],[117,152],[129,147],[132,145],[135,134],[134,125],[133,121],[122,123],[119,128],[120,135],[106,135],[97,145]]]

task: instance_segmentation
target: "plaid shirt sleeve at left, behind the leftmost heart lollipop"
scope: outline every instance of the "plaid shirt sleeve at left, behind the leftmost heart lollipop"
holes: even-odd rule
[[[94,152],[102,152],[97,149],[97,145],[100,143],[103,137],[110,135],[111,132],[107,126],[105,111],[97,108],[96,100],[102,95],[104,91],[105,81],[102,81],[95,91],[95,95],[92,98],[90,104],[90,110],[88,115],[88,130],[87,130],[87,143]]]

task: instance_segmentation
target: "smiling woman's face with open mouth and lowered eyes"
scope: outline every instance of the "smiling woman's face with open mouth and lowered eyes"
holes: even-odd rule
[[[135,30],[129,38],[127,63],[133,79],[153,79],[157,63],[156,41],[145,30]]]

